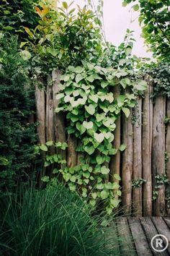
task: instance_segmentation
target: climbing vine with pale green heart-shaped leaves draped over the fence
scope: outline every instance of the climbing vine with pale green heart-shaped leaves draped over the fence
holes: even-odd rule
[[[114,98],[117,86],[124,92]],[[82,61],[81,66],[68,67],[61,76],[59,87],[56,98],[60,103],[55,111],[66,112],[67,132],[79,138],[81,143],[76,150],[84,155],[79,166],[65,168],[63,175],[74,183],[68,184],[71,190],[77,189],[77,184],[82,183],[81,176],[84,176],[83,197],[89,195],[91,205],[96,205],[98,198],[105,200],[107,213],[112,213],[120,202],[115,195],[121,195],[121,192],[117,190],[119,184],[106,182],[108,163],[111,155],[126,148],[124,144],[120,148],[112,145],[115,121],[121,111],[129,116],[136,95],[146,89],[146,82],[135,80],[128,69],[103,68]],[[79,179],[75,179],[75,173],[79,174]],[[115,176],[115,179],[120,177]]]

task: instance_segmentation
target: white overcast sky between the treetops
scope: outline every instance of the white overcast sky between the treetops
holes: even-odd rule
[[[66,0],[65,0],[66,1]],[[68,4],[71,0],[67,0]],[[97,4],[98,0],[94,0],[94,4]],[[75,4],[79,4],[84,7],[84,0],[74,0]],[[132,6],[133,4],[131,4]],[[122,7],[122,0],[104,0],[104,28],[106,38],[109,42],[112,42],[115,46],[122,43],[127,28],[134,30],[134,43],[133,54],[140,57],[151,58],[151,52],[146,52],[146,47],[141,38],[141,28],[138,24],[138,12],[132,11],[130,5]],[[133,22],[131,22],[133,20]]]

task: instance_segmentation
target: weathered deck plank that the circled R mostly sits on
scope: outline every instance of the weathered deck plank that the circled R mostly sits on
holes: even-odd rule
[[[151,221],[151,218],[142,218],[140,217],[140,222],[143,226],[144,232],[146,234],[146,237],[148,239],[148,244],[151,248],[151,239],[153,238],[153,236],[155,236],[156,234],[158,234],[158,231],[156,230],[156,227],[153,225],[153,222]],[[156,248],[156,244],[155,244],[155,240],[153,241],[153,246]],[[164,252],[155,252],[152,248],[151,251],[153,252],[153,255],[156,256],[167,256],[169,255],[167,251]]]

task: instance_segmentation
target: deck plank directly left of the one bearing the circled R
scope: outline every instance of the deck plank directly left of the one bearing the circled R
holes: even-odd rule
[[[128,217],[130,230],[135,242],[135,249],[138,256],[152,256],[146,235],[143,232],[139,218]]]

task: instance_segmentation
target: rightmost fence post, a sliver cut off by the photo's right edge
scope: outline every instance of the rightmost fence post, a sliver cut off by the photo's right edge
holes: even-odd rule
[[[166,117],[170,118],[170,101],[167,99],[166,103]],[[167,162],[167,176],[170,182],[170,124],[167,125],[166,127],[166,153],[169,158]],[[170,216],[170,209],[167,208],[167,213]]]

